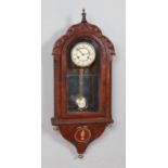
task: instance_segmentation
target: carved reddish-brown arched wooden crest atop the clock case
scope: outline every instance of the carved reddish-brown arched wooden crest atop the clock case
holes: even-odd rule
[[[107,54],[115,55],[115,49],[113,43],[107,37],[102,35],[101,29],[95,25],[89,24],[88,22],[81,22],[80,24],[73,25],[72,27],[69,27],[67,33],[55,42],[53,52],[52,52],[55,60],[56,57],[61,56],[61,53],[66,40],[79,34],[95,36],[104,44]]]

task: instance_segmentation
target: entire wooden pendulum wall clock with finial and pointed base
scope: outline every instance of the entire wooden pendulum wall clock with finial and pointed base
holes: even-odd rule
[[[73,143],[79,157],[113,122],[109,39],[86,20],[69,27],[54,44],[54,117],[52,125]]]

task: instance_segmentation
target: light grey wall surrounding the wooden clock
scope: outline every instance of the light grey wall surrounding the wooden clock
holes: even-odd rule
[[[96,3],[96,8],[95,8]],[[113,114],[115,125],[90,144],[85,158],[77,159],[73,144],[53,131],[53,57],[54,42],[69,26],[81,22],[81,10],[86,8],[87,20],[100,26],[116,48],[113,62]],[[68,167],[125,167],[125,0],[42,0],[42,168]],[[98,161],[99,160],[99,161]]]

